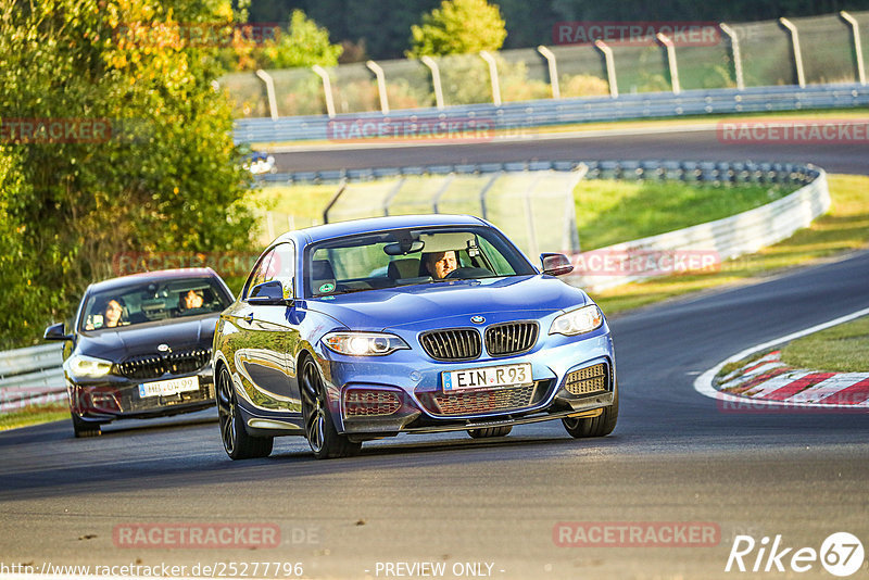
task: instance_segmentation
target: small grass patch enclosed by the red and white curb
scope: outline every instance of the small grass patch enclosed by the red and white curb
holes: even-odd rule
[[[839,373],[869,371],[869,316],[797,339],[781,351],[790,366]]]

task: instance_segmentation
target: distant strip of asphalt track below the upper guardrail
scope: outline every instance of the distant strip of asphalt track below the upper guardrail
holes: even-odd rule
[[[313,148],[277,153],[275,162],[281,172],[297,172],[532,160],[751,160],[810,162],[829,173],[869,174],[869,142],[727,143],[719,141],[714,127],[615,136],[527,137],[515,141],[425,147]]]

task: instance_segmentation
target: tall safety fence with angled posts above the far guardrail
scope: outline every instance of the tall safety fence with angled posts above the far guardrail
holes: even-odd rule
[[[866,85],[867,11],[745,24],[694,23],[701,33],[696,36],[668,31],[691,23],[635,23],[642,24],[639,34],[618,38],[606,33],[597,38],[565,36],[558,23],[553,24],[552,42],[537,49],[236,73],[218,85],[232,97],[235,115],[242,119]],[[561,24],[575,26],[576,33],[618,23]]]

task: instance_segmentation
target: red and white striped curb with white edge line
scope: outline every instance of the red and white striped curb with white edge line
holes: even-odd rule
[[[869,408],[869,373],[818,373],[792,368],[773,351],[728,374],[716,388],[714,379],[725,365],[754,353],[847,323],[869,314],[864,308],[833,320],[757,344],[721,361],[694,381],[698,393],[728,403],[756,402],[767,406]]]

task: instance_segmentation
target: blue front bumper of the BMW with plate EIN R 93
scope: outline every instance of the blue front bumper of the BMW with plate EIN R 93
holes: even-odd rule
[[[324,361],[330,409],[339,431],[355,436],[388,437],[399,432],[437,432],[500,425],[521,425],[593,412],[613,404],[616,386],[615,354],[608,329],[580,339],[546,337],[534,351],[509,357],[481,357],[458,363],[420,360],[418,352],[398,351],[371,360],[327,354]],[[449,370],[529,363],[534,383],[526,387],[444,392],[442,373]],[[568,390],[572,381],[596,369],[594,388]],[[602,370],[601,370],[602,369]],[[354,391],[378,393],[374,413],[349,408]],[[572,391],[572,392],[571,392]]]

